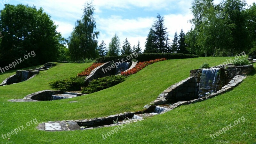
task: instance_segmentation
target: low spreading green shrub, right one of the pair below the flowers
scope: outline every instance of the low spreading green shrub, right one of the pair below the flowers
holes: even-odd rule
[[[99,78],[97,80],[92,80],[88,87],[84,87],[82,90],[83,94],[91,94],[108,87],[113,87],[121,82],[124,81],[126,77],[119,75],[119,76],[109,76],[104,78]]]

